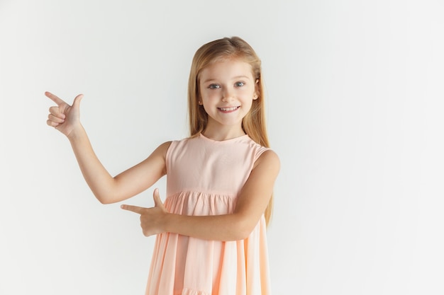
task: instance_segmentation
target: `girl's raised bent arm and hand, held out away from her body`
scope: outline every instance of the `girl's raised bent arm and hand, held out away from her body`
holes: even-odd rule
[[[87,132],[80,123],[79,104],[83,96],[77,96],[72,105],[52,93],[46,92],[45,96],[57,104],[50,108],[47,124],[70,140],[84,179],[101,203],[120,202],[133,197],[165,175],[165,154],[170,142],[157,147],[145,161],[112,177],[94,153]]]

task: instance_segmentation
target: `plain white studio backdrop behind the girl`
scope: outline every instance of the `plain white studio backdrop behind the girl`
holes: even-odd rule
[[[438,0],[0,1],[0,294],[143,294],[154,238],[96,201],[43,93],[84,93],[116,174],[187,136],[192,56],[233,35],[262,59],[282,161],[274,294],[444,294],[443,15]]]

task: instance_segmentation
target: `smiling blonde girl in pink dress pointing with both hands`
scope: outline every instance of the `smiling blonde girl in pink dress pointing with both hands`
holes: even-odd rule
[[[239,37],[196,51],[189,74],[191,136],[161,144],[145,161],[112,177],[79,121],[82,95],[57,106],[47,124],[65,134],[85,180],[104,204],[121,202],[167,175],[167,198],[140,214],[157,235],[146,294],[270,294],[266,224],[279,158],[265,129],[260,59]]]

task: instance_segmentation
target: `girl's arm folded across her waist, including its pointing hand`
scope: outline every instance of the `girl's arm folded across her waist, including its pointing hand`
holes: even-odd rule
[[[140,226],[145,236],[170,232],[213,241],[243,240],[250,235],[267,208],[279,168],[277,154],[272,150],[265,151],[255,162],[247,182],[240,191],[233,214],[170,214],[163,207],[157,190],[154,192],[155,207],[122,205],[122,209],[140,214]]]

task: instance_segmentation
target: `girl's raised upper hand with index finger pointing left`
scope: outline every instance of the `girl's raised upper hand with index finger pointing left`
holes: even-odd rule
[[[68,105],[65,101],[50,92],[45,92],[45,96],[57,104],[57,106],[50,107],[50,114],[48,115],[46,124],[55,127],[55,129],[69,137],[72,130],[80,125],[79,107],[83,94],[76,96],[72,105]]]

